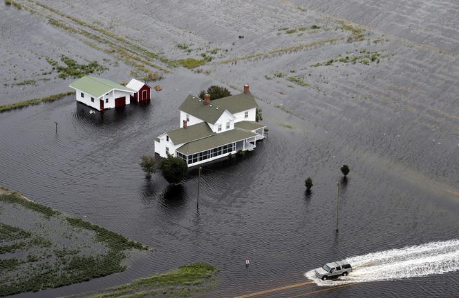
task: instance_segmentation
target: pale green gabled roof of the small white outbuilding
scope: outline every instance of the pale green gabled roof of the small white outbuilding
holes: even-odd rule
[[[69,87],[81,90],[82,92],[88,93],[88,95],[92,95],[93,97],[97,98],[110,92],[113,89],[118,89],[126,92],[135,92],[134,90],[124,87],[119,83],[115,83],[114,81],[90,76],[84,76],[80,79],[77,79],[71,83]]]

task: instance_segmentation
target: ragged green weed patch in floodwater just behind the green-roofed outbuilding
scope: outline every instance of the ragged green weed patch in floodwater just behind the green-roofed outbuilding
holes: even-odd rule
[[[62,79],[66,79],[67,77],[79,78],[84,77],[86,74],[101,74],[106,68],[105,66],[101,66],[97,61],[91,61],[88,64],[79,64],[77,61],[67,57],[65,55],[61,56],[61,61],[66,64],[66,66],[59,66],[59,63],[49,57],[45,58],[50,65],[53,66],[53,69],[56,69],[59,72],[59,77]]]

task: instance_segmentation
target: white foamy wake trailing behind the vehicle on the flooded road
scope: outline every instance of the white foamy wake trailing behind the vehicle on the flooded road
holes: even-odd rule
[[[346,277],[322,281],[315,276],[314,270],[306,272],[305,276],[319,286],[336,286],[453,272],[459,270],[459,240],[372,252],[344,259],[343,262],[353,266],[353,272]]]

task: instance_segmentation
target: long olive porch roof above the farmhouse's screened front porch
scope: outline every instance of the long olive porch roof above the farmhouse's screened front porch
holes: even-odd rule
[[[234,128],[233,130],[221,132],[219,134],[212,135],[211,137],[206,137],[204,139],[186,143],[185,145],[178,148],[177,151],[184,155],[191,155],[212,148],[220,147],[229,143],[234,143],[236,141],[242,141],[243,139],[247,139],[250,137],[256,137],[257,135],[258,134],[256,134],[255,132]]]

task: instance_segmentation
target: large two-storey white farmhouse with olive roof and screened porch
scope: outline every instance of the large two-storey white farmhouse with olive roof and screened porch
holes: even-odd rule
[[[191,167],[254,150],[266,127],[255,121],[256,108],[248,85],[239,95],[213,101],[209,95],[204,99],[189,95],[179,108],[180,128],[157,137],[155,152],[160,157],[180,157]]]

